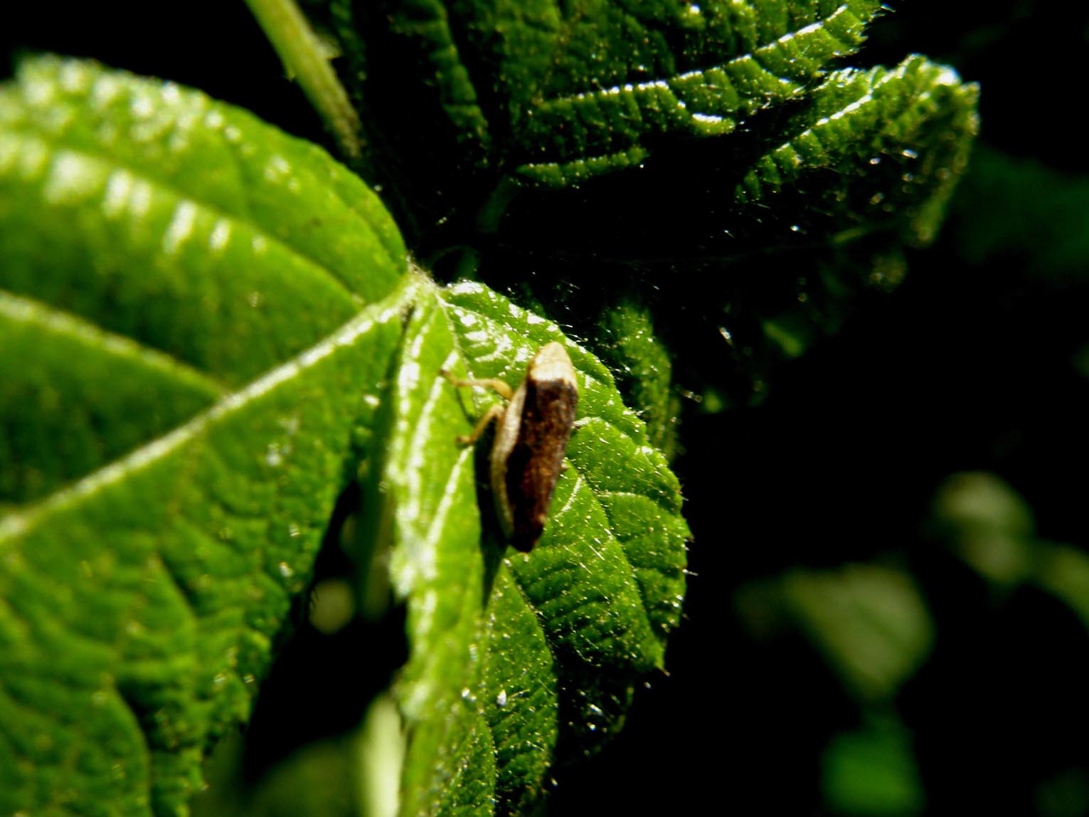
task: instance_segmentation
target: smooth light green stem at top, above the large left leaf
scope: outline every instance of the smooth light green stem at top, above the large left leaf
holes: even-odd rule
[[[287,75],[298,81],[340,149],[350,158],[359,158],[363,151],[359,117],[298,5],[294,0],[246,0],[246,4],[280,56]]]

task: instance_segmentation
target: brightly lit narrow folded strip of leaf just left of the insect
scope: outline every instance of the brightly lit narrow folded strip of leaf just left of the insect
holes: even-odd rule
[[[451,429],[456,394],[439,370],[452,362],[453,333],[428,288],[417,301],[384,404],[383,461],[365,499],[368,537],[394,548],[390,576],[407,599],[409,658],[399,698],[413,729],[403,814],[432,813],[449,784],[456,727],[469,683],[469,645],[484,597],[484,561],[472,449]],[[436,775],[445,772],[445,779]]]

